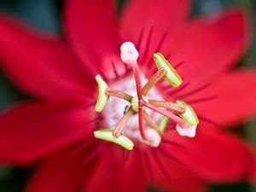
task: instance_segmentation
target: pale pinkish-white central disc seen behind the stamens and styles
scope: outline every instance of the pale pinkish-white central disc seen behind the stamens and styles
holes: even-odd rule
[[[146,84],[148,82],[148,79],[143,74],[141,74],[141,79],[142,79],[142,84]],[[135,112],[138,112],[138,98],[137,98],[136,83],[132,75],[125,77],[125,79],[120,79],[119,81],[114,82],[113,84],[110,84],[110,85],[114,90],[122,90],[125,93],[128,93],[129,95],[133,96],[131,99],[131,102],[121,100],[117,97],[109,98],[108,105],[102,111],[102,116],[105,119],[105,124],[106,124],[105,126],[114,130],[119,120],[122,119],[123,115],[127,112],[129,108],[132,108]],[[152,88],[150,92],[148,92],[147,98],[145,96],[143,96],[143,98],[145,101],[147,101],[147,98],[163,100],[163,96],[161,96],[160,92],[155,88]],[[143,107],[143,109],[145,110],[145,112],[148,113],[148,117],[150,117],[150,119],[152,119],[154,122],[160,121],[161,115],[159,113],[155,113],[154,111],[146,109],[145,107]],[[150,130],[151,127],[146,125],[145,129]],[[160,144],[161,137],[159,137],[158,141],[155,141],[155,143],[148,143],[141,137],[140,131],[138,130],[137,113],[134,113],[131,116],[131,118],[125,125],[123,134],[127,137],[130,137],[133,140],[148,144],[152,147],[157,147]]]

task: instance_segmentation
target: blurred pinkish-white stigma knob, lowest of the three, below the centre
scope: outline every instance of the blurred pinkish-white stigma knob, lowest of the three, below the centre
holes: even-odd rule
[[[147,129],[145,131],[146,135],[148,136],[148,140],[144,140],[143,137],[139,137],[140,142],[148,144],[151,147],[157,148],[161,142],[160,134],[153,129]]]

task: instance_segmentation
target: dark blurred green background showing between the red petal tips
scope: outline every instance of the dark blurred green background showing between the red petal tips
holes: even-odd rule
[[[177,0],[178,2],[178,0]],[[18,15],[26,22],[41,30],[61,33],[61,0],[0,0],[0,11]],[[121,0],[117,3],[119,9],[125,3]],[[237,63],[237,67],[256,66],[256,1],[255,0],[194,0],[192,15],[207,15],[212,11],[223,9],[226,6],[240,4],[251,12],[253,22],[253,39],[247,55]],[[26,99],[27,96],[10,83],[0,71],[0,109],[6,108],[16,102]],[[255,98],[256,99],[256,98]],[[237,129],[238,130],[238,129]],[[236,129],[235,129],[236,131]],[[242,137],[247,137],[256,143],[256,120],[241,125],[239,132]],[[0,192],[21,192],[26,178],[32,171],[32,167],[20,168],[15,166],[0,166]],[[149,191],[156,191],[149,189]],[[211,185],[212,192],[256,192],[252,184],[242,182],[233,184]],[[47,192],[47,191],[46,191]]]

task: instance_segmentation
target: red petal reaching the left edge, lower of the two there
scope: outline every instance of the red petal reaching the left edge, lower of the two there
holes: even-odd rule
[[[0,116],[0,160],[30,163],[90,133],[90,110],[78,101],[24,103]]]

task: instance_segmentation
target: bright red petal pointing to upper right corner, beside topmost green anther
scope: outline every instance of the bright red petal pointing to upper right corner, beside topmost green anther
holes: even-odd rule
[[[225,11],[213,18],[192,20],[164,44],[174,65],[185,79],[210,79],[232,67],[248,43],[247,15],[241,10]]]

